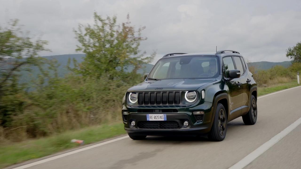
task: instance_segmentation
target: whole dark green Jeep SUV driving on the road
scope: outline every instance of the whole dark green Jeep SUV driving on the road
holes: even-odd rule
[[[237,51],[166,54],[144,78],[123,98],[124,129],[134,140],[208,134],[222,141],[227,122],[256,123],[257,85]]]

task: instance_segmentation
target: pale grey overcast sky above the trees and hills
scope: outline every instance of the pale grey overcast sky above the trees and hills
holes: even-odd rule
[[[146,26],[141,50],[166,53],[237,50],[252,62],[289,60],[286,49],[301,41],[301,1],[198,0],[0,0],[0,25],[19,19],[23,29],[43,34],[52,52],[76,54],[73,28],[93,23],[93,12],[130,14],[132,24]],[[155,61],[157,61],[155,59]]]

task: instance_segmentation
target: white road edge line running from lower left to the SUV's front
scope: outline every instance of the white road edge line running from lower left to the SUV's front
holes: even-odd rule
[[[38,165],[38,164],[42,164],[42,163],[45,163],[45,162],[48,162],[48,161],[55,160],[57,158],[65,157],[67,155],[75,154],[75,153],[82,152],[82,151],[85,151],[85,150],[88,150],[88,149],[93,149],[95,147],[99,147],[99,146],[103,146],[103,145],[106,145],[106,144],[109,144],[109,143],[113,143],[115,141],[123,140],[123,139],[126,139],[128,137],[129,136],[119,137],[119,138],[116,138],[116,139],[113,139],[113,140],[109,140],[109,141],[106,141],[106,142],[103,142],[103,143],[95,144],[95,145],[92,145],[92,146],[84,147],[82,149],[77,149],[77,150],[74,150],[74,151],[71,151],[71,152],[67,152],[67,153],[64,153],[64,154],[61,154],[61,155],[57,155],[57,156],[54,156],[54,157],[46,158],[44,160],[40,160],[40,161],[36,161],[36,162],[30,163],[30,164],[22,165],[20,167],[16,167],[16,168],[13,168],[13,169],[24,169],[24,168],[32,167],[32,166],[35,166],[35,165]]]

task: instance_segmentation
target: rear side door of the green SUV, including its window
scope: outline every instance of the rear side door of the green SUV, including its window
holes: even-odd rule
[[[248,111],[248,106],[250,103],[250,79],[248,74],[246,73],[246,65],[244,63],[244,60],[242,57],[234,56],[233,60],[236,65],[236,69],[240,70],[240,89],[241,89],[241,96],[242,96],[242,101],[241,101],[241,106],[242,107],[242,113],[245,113]]]

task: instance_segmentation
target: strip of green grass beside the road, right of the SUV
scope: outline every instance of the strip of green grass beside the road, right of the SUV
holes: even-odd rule
[[[275,91],[280,91],[280,90],[284,90],[284,89],[288,89],[288,88],[293,88],[296,86],[298,86],[297,81],[292,81],[290,83],[275,84],[275,85],[265,87],[265,88],[261,87],[261,88],[258,88],[258,96],[273,93]]]

